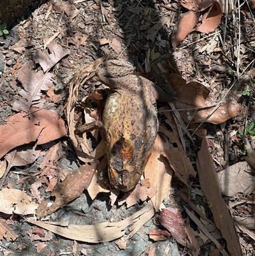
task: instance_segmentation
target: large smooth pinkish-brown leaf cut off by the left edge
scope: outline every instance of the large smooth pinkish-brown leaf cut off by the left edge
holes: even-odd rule
[[[64,121],[54,112],[45,109],[31,112],[25,117],[22,113],[15,114],[0,126],[0,158],[14,147],[36,140],[38,145],[45,144],[66,135]]]

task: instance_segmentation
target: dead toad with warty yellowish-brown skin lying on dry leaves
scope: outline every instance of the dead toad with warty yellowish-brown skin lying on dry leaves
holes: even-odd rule
[[[99,66],[96,79],[112,89],[103,120],[94,122],[105,142],[108,176],[112,186],[124,192],[135,187],[150,157],[158,131],[156,100],[173,96],[144,77],[133,75],[133,66],[110,60]],[[86,126],[77,128],[82,133]]]

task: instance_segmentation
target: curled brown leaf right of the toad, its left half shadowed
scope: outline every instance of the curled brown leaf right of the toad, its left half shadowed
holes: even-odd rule
[[[210,91],[198,82],[186,84],[179,75],[164,73],[176,91],[176,99],[173,103],[177,109],[187,109],[180,111],[180,115],[186,123],[207,123],[220,124],[237,116],[240,113],[241,105],[230,100],[221,105],[212,116],[210,112],[215,107],[215,102],[208,98]],[[194,109],[194,110],[193,110]]]

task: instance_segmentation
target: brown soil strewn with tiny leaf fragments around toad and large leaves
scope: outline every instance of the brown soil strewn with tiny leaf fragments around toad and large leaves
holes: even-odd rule
[[[168,64],[170,63],[172,66],[164,66],[164,68],[168,68],[166,71],[178,73],[186,82],[200,82],[209,89],[209,96],[214,102],[223,100],[226,91],[236,81],[235,87],[225,98],[238,101],[242,105],[241,113],[238,117],[222,124],[207,124],[205,128],[207,129],[208,144],[211,145],[210,153],[214,158],[217,172],[244,161],[244,154],[242,154],[244,144],[242,140],[232,137],[233,131],[235,134],[238,133],[237,131],[244,131],[247,125],[255,121],[254,87],[251,83],[255,73],[254,71],[252,73],[255,22],[254,16],[252,12],[249,12],[247,6],[242,6],[240,19],[242,58],[238,59],[236,46],[238,38],[235,37],[235,32],[238,33],[235,27],[238,26],[235,23],[237,20],[233,20],[232,15],[228,15],[227,24],[224,23],[225,15],[222,16],[222,22],[217,30],[221,36],[215,38],[215,34],[210,33],[207,37],[206,34],[194,32],[186,36],[174,49],[171,46],[173,26],[187,12],[179,2],[109,0],[101,3],[105,11],[104,15],[101,13],[99,0],[52,0],[47,3],[39,3],[38,8],[32,9],[32,14],[27,18],[18,20],[18,22],[16,18],[10,22],[8,20],[9,34],[0,37],[0,124],[5,124],[8,117],[17,113],[13,104],[15,100],[22,98],[20,95],[22,84],[17,79],[18,70],[24,63],[34,59],[36,50],[41,49],[47,52],[49,41],[56,41],[64,49],[68,49],[69,54],[50,70],[54,74],[56,94],[61,94],[62,98],[53,102],[47,93],[43,92],[42,98],[45,99],[43,109],[55,110],[64,121],[66,121],[66,114],[63,107],[68,102],[66,92],[69,88],[69,81],[86,64],[108,55],[108,59],[122,59],[131,62],[136,67],[136,72],[150,72],[148,63],[152,59],[163,54],[170,54],[171,61],[168,61]],[[62,4],[66,4],[66,6],[63,8]],[[156,26],[157,24],[160,24],[159,27]],[[226,27],[226,36],[223,32],[224,27]],[[221,48],[223,37],[225,38],[224,50]],[[29,41],[29,46],[25,46],[18,52],[10,48],[22,38]],[[37,64],[36,69],[39,72],[41,67]],[[240,75],[241,73],[242,75]],[[82,89],[78,100],[81,101],[83,96],[91,93],[95,88],[105,90],[105,87],[99,86],[100,84],[96,80],[89,80]],[[161,117],[161,122],[164,123],[164,117]],[[167,123],[164,123],[164,127],[168,128],[168,126]],[[57,142],[61,142],[61,153],[63,153],[62,157],[56,160],[58,169],[66,170],[69,173],[77,170],[82,162],[78,160],[77,154],[66,136],[43,145],[44,153],[34,163],[23,167],[12,167],[4,180],[3,187],[16,188],[32,196],[31,186],[40,177],[39,165],[45,159],[50,147]],[[226,145],[228,145],[227,151]],[[186,138],[186,146],[189,148],[191,161],[195,163],[200,142],[196,142],[194,145]],[[254,174],[253,169],[252,172]],[[168,198],[164,200],[166,207],[170,205],[173,198],[180,207],[185,204],[178,197],[183,187],[184,185],[175,177]],[[47,183],[41,183],[38,188],[40,197],[46,202],[54,201],[50,191],[45,191],[46,188]],[[193,179],[192,188],[194,190],[200,188],[198,177]],[[207,202],[203,201],[203,198],[193,190],[191,197],[193,204],[205,207],[207,218],[213,222]],[[233,207],[230,208],[232,215],[254,218],[254,190],[244,197],[240,192],[238,195],[224,197],[224,199],[232,203]],[[34,195],[33,200],[37,202]],[[238,204],[239,201],[242,203]],[[96,199],[91,200],[89,194],[84,192],[78,199],[50,215],[50,220],[86,225],[107,221],[117,222],[133,215],[144,205],[145,202],[140,202],[140,204],[129,208],[125,204],[111,206],[108,193],[99,193]],[[187,218],[184,208],[181,209],[183,217]],[[163,241],[154,241],[148,235],[151,230],[164,229],[159,224],[157,216],[158,214],[145,223],[135,236],[127,241],[126,246],[121,248],[115,243],[116,241],[90,244],[66,239],[47,230],[43,231],[43,236],[35,238],[34,234],[40,233],[39,228],[36,229],[36,226],[26,222],[22,216],[0,213],[0,218],[8,223],[10,229],[18,236],[14,241],[0,236],[0,256],[36,254],[52,256],[184,255],[187,248],[178,244],[173,237],[164,237]],[[191,222],[191,227],[195,230],[194,232],[198,231],[194,222]],[[246,231],[238,230],[242,250],[244,255],[255,255],[254,236],[252,239],[252,236],[248,236]],[[128,234],[129,230],[127,229],[125,232]],[[214,237],[228,251],[226,241],[220,232],[216,230]],[[199,237],[198,241],[199,255],[221,255],[212,241],[203,241],[203,237]],[[154,254],[149,252],[150,248],[155,248]]]

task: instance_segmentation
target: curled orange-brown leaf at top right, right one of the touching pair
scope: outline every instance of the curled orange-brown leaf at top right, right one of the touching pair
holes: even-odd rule
[[[215,31],[221,22],[222,10],[221,5],[215,2],[214,5],[203,15],[202,24],[196,28],[194,31],[201,33],[210,33]]]

